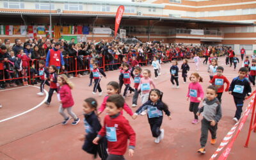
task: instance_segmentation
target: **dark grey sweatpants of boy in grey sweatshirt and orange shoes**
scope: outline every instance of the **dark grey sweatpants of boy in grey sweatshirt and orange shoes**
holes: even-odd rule
[[[201,122],[202,122],[202,126],[201,126],[200,145],[201,147],[205,147],[205,144],[208,138],[208,130],[211,132],[212,139],[215,139],[217,129],[218,129],[218,123],[216,123],[214,126],[211,126],[211,122],[209,122],[208,120],[205,120],[205,118],[203,118]]]

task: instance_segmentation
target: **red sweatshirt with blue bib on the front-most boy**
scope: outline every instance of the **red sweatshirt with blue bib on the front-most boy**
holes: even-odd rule
[[[135,147],[136,134],[128,120],[121,114],[112,117],[106,115],[104,125],[100,129],[99,135],[107,137],[109,154],[124,155],[127,149],[128,139],[130,140],[129,147]]]

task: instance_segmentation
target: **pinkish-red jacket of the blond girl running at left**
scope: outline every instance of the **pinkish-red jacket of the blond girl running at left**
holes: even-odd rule
[[[71,88],[68,84],[61,86],[59,93],[63,108],[70,108],[74,106],[75,103],[72,97]]]

